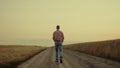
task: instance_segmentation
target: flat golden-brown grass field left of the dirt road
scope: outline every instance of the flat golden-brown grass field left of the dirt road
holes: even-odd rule
[[[15,68],[21,62],[45,50],[39,46],[0,46],[0,68]]]

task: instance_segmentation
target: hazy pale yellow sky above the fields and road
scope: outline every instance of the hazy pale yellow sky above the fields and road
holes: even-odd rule
[[[0,44],[53,46],[120,38],[120,0],[0,0]]]

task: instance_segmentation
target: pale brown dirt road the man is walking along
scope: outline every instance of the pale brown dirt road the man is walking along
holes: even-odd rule
[[[120,68],[120,63],[64,49],[61,64],[55,62],[54,48],[48,48],[18,68]]]

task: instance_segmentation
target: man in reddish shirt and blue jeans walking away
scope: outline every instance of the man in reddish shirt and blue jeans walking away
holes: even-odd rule
[[[60,63],[62,63],[62,43],[64,41],[64,34],[62,31],[60,31],[59,25],[56,26],[56,31],[53,32],[53,41],[55,42],[56,62],[58,62],[58,52],[59,52]]]

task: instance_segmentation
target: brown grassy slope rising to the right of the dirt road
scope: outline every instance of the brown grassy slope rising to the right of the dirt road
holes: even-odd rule
[[[71,44],[64,48],[120,61],[120,39]]]

